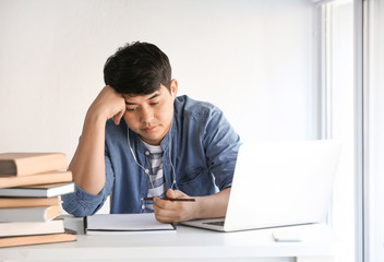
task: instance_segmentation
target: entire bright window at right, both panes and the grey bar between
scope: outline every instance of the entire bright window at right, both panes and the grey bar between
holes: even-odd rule
[[[345,241],[338,261],[384,261],[384,0],[317,11],[322,138],[344,142],[329,215]]]

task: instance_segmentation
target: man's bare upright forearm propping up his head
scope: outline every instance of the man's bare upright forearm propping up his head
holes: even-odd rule
[[[105,127],[105,118],[87,114],[82,138],[69,166],[76,184],[91,194],[98,194],[106,181]]]

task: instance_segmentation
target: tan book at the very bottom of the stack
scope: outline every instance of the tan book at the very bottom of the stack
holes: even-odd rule
[[[76,231],[65,228],[64,233],[44,234],[17,237],[0,237],[0,248],[19,247],[38,243],[76,241]]]

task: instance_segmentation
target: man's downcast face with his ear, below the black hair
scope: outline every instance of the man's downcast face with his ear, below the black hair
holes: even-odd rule
[[[171,90],[177,92],[176,81],[171,83]],[[123,97],[127,105],[124,120],[128,127],[145,143],[159,145],[173,119],[173,97],[167,87],[160,85],[158,91],[149,95],[124,94]]]

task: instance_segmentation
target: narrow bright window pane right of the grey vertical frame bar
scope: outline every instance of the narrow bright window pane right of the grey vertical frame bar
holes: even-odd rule
[[[384,261],[384,1],[363,8],[363,245],[364,262]]]

